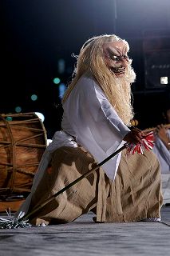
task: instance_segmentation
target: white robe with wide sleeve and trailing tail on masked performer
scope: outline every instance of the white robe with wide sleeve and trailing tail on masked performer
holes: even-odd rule
[[[128,127],[118,117],[101,87],[90,74],[85,74],[79,79],[63,108],[62,130],[54,134],[53,141],[47,146],[34,177],[31,193],[18,213],[26,213],[32,194],[49,164],[53,151],[57,148],[76,147],[78,143],[88,150],[97,162],[101,162],[125,143],[123,138],[129,132]],[[105,174],[112,180],[117,174],[120,160],[121,153],[102,166]]]

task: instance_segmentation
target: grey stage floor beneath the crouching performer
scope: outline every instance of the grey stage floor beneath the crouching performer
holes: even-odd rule
[[[94,223],[89,213],[69,224],[0,230],[0,256],[167,256],[170,206],[161,212],[163,223]]]

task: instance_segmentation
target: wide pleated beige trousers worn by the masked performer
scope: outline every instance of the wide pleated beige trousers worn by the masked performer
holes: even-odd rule
[[[81,146],[63,146],[53,152],[51,167],[32,195],[29,212],[92,168],[95,161]],[[136,222],[160,218],[160,166],[152,151],[129,155],[124,150],[114,181],[100,167],[66,190],[30,222],[39,225],[72,222],[92,210],[97,222]]]

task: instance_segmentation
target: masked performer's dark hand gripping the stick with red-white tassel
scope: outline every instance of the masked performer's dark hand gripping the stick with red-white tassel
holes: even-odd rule
[[[133,128],[128,134],[125,135],[125,142],[132,142],[134,144],[142,143],[141,139],[144,137],[144,132],[138,128]]]

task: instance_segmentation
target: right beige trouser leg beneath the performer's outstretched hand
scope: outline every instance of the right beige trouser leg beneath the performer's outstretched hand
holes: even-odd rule
[[[109,183],[105,222],[160,218],[160,165],[152,151],[129,155],[124,150],[115,181]]]

